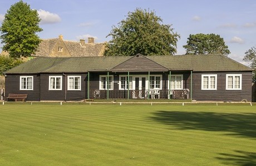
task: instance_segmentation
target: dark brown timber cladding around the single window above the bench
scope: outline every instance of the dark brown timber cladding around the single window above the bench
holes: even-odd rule
[[[19,90],[20,76],[33,76],[33,90]],[[27,94],[27,101],[40,101],[40,76],[36,74],[8,74],[5,96],[8,94]]]

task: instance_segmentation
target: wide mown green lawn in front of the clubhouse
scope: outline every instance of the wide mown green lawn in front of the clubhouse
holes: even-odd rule
[[[256,165],[256,107],[0,105],[1,165]]]

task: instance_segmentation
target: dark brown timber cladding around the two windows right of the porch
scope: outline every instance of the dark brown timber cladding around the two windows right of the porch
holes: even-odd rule
[[[201,75],[217,74],[217,90],[201,90]],[[226,74],[242,74],[242,90],[226,90]],[[193,99],[198,101],[252,100],[252,72],[193,72]]]

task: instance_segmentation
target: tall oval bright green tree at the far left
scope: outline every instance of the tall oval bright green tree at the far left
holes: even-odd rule
[[[8,51],[13,58],[26,57],[35,54],[40,44],[40,38],[36,35],[41,32],[40,18],[36,10],[32,10],[27,3],[19,1],[13,4],[4,15],[2,26],[3,50]]]

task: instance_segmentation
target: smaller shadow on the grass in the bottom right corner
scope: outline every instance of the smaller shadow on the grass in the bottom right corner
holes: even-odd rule
[[[223,160],[227,165],[256,165],[256,153],[235,151],[237,154],[220,153],[221,157],[217,157],[219,160]]]

